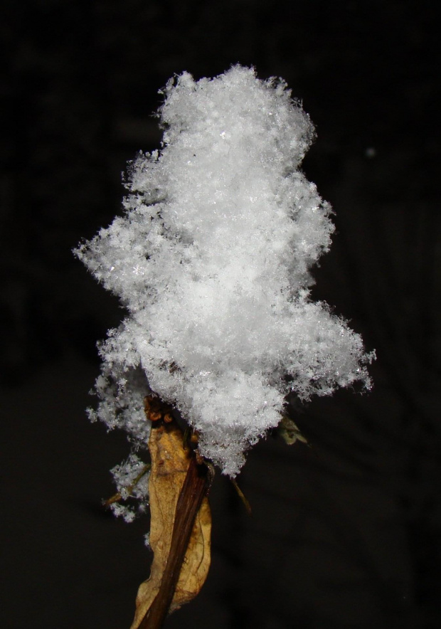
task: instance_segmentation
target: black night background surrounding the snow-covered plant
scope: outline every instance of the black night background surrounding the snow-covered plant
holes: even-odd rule
[[[159,147],[174,73],[280,75],[318,139],[304,171],[336,211],[314,297],[377,350],[341,391],[212,491],[213,562],[173,628],[441,626],[439,31],[430,1],[6,1],[0,20],[5,629],[124,629],[148,518],[100,507],[124,435],[91,425],[95,341],[123,317],[71,249],[120,211]]]

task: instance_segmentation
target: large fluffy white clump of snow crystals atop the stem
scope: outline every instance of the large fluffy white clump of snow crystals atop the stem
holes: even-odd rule
[[[334,227],[299,171],[314,128],[285,82],[237,65],[163,93],[161,152],[130,164],[124,216],[77,250],[128,311],[100,349],[97,416],[145,441],[150,387],[234,476],[289,391],[369,387],[372,356],[309,298]]]

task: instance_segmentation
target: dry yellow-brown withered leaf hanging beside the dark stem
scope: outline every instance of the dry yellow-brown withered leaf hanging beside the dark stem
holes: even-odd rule
[[[180,532],[176,531],[176,528],[184,528],[181,526],[183,518],[187,520],[188,517],[194,517],[194,515],[188,516],[185,505],[184,508],[181,503],[178,505],[179,497],[181,496],[182,501],[182,494],[185,492],[184,490],[181,493],[184,481],[186,481],[186,486],[189,482],[194,482],[191,480],[191,473],[193,467],[196,470],[196,462],[193,453],[188,448],[184,448],[184,435],[176,421],[152,427],[149,450],[152,458],[149,479],[150,545],[154,558],[149,578],[139,586],[136,613],[130,629],[150,626],[145,620],[143,623],[143,619],[148,615],[147,612],[151,610],[152,604],[157,603],[160,589],[164,590],[163,581],[170,581],[171,550],[176,556],[176,548],[171,549],[172,539],[175,547],[183,544],[182,540],[177,539]],[[193,476],[197,473],[197,470],[193,472]],[[191,601],[201,590],[210,567],[210,546],[211,511],[208,499],[204,495],[194,519],[184,561],[180,569],[179,565],[177,566],[180,570],[179,578],[171,603],[169,605],[167,603],[169,611],[178,609],[184,603]]]

